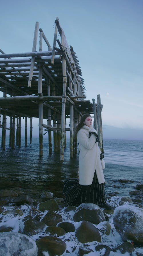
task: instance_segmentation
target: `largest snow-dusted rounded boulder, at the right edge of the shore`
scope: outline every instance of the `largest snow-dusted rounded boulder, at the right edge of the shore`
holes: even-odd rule
[[[133,206],[118,206],[114,210],[113,223],[122,240],[132,240],[143,245],[143,209]]]

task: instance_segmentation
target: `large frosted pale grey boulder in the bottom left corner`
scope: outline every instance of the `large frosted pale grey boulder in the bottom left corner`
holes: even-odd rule
[[[16,233],[0,233],[1,256],[37,256],[37,245],[30,237]]]

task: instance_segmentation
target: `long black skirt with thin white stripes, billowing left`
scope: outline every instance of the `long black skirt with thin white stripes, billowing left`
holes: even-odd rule
[[[104,183],[98,183],[96,171],[91,185],[80,185],[79,179],[69,178],[64,184],[63,194],[69,206],[82,203],[106,204]]]

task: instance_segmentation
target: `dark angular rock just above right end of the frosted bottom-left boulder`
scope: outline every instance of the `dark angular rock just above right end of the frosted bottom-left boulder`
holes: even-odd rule
[[[44,231],[46,224],[35,219],[28,219],[24,222],[23,234],[33,236]]]

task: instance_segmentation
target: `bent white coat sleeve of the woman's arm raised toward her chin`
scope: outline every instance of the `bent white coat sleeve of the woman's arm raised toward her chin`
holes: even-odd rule
[[[88,135],[82,130],[79,130],[77,134],[77,139],[78,142],[86,149],[92,149],[96,142],[96,136],[94,136],[94,134],[92,134],[90,138],[88,138]]]

